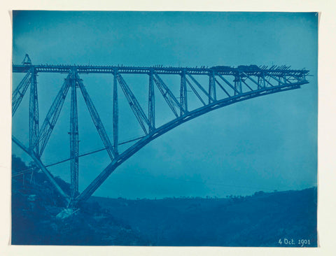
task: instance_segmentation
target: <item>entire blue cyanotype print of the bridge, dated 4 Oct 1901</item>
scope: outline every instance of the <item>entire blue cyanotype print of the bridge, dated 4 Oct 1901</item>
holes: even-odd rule
[[[12,62],[12,245],[318,246],[318,13],[13,10]]]

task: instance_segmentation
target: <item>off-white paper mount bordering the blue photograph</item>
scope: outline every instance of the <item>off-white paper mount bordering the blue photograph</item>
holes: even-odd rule
[[[166,1],[43,1],[3,0],[0,3],[0,255],[333,255],[336,250],[335,199],[335,32],[336,3],[327,0],[166,0]],[[318,234],[319,248],[210,248],[123,246],[10,246],[11,155],[11,10],[216,10],[216,11],[318,11]]]

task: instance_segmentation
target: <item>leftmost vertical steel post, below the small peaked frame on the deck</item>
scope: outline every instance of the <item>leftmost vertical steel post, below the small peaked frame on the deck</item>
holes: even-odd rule
[[[31,70],[31,85],[29,97],[29,150],[38,155],[38,97],[37,97],[37,80],[36,69]]]

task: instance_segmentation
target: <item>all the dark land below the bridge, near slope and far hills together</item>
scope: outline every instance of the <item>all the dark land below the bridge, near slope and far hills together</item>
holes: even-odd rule
[[[13,173],[25,167],[13,157]],[[43,173],[25,173],[13,176],[12,244],[317,246],[316,200],[316,187],[226,199],[92,197],[62,219]]]

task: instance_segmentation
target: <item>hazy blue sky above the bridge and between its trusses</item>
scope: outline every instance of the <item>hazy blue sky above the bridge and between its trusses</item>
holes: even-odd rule
[[[13,63],[124,66],[273,64],[307,69],[309,84],[225,106],[172,129],[120,165],[96,196],[226,197],[301,190],[317,184],[316,13],[13,12]],[[39,74],[40,122],[66,74]],[[80,75],[112,138],[112,76]],[[13,87],[22,74],[13,74]],[[148,78],[124,76],[145,108]],[[179,82],[167,79],[171,87]],[[155,92],[158,93],[158,92]],[[27,94],[28,95],[28,94]],[[13,118],[27,145],[29,97]],[[171,120],[157,95],[158,124]],[[80,154],[102,148],[78,95]],[[120,141],[141,129],[120,97]],[[145,108],[146,109],[146,108]],[[42,161],[69,157],[69,95]],[[13,144],[13,154],[30,161]],[[80,190],[109,164],[106,152],[80,158]],[[69,162],[50,167],[69,181]]]

